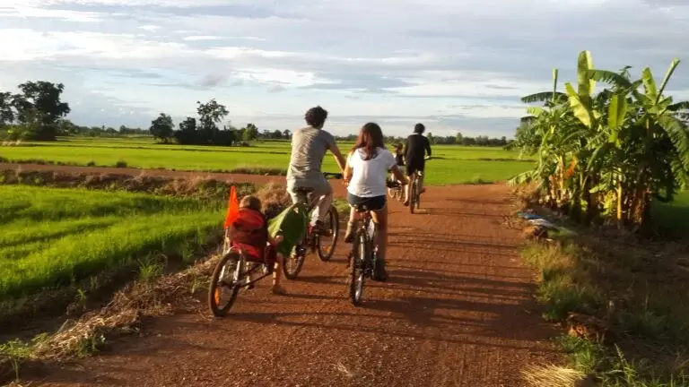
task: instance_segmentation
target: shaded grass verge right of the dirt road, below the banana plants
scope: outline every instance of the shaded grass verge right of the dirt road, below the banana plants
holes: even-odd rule
[[[538,272],[544,318],[568,327],[559,342],[571,369],[602,386],[689,385],[681,250],[583,232],[550,236],[528,242],[522,255]]]

